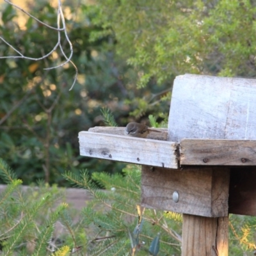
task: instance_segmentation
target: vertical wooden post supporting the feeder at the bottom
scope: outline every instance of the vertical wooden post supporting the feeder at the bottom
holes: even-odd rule
[[[228,217],[183,214],[182,256],[228,256]]]

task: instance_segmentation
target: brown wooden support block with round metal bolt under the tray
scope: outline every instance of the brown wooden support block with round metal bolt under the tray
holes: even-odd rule
[[[195,214],[206,217],[228,216],[229,168],[207,167],[141,171],[141,204],[147,208]],[[173,192],[179,201],[173,201]]]

